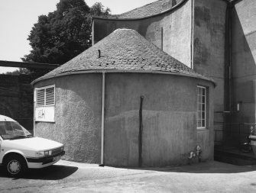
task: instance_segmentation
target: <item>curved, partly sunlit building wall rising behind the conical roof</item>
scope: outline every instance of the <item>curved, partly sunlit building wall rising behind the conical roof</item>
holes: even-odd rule
[[[177,9],[151,18],[138,20],[95,18],[92,23],[92,42],[97,43],[118,28],[138,31],[160,49],[163,47],[164,52],[170,56],[186,66],[191,66],[191,1],[185,1]]]

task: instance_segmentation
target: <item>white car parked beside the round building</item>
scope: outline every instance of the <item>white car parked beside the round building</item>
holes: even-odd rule
[[[34,137],[17,121],[0,114],[0,165],[11,177],[26,169],[39,169],[58,162],[64,146],[53,140]]]

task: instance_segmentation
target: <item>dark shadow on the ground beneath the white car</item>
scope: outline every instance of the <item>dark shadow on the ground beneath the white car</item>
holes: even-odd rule
[[[53,165],[43,169],[28,169],[21,179],[60,180],[72,175],[78,167]],[[7,177],[4,168],[0,167],[0,177]]]

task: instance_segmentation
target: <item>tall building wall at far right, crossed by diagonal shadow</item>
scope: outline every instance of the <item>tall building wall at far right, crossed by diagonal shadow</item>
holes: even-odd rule
[[[256,123],[256,2],[243,0],[232,8],[233,122]],[[249,127],[245,131],[249,131]]]

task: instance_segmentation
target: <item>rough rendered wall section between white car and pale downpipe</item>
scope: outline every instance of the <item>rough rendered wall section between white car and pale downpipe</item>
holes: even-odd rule
[[[35,135],[65,145],[64,159],[100,162],[102,75],[63,76],[35,86],[56,86],[55,123],[36,122]]]

